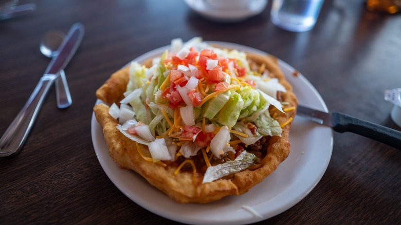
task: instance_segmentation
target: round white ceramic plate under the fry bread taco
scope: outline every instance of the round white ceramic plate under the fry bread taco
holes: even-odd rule
[[[246,52],[265,52],[225,42],[210,42],[226,48]],[[146,59],[161,55],[167,47],[145,53],[135,59]],[[302,74],[288,64],[279,61],[287,80],[293,85],[299,103],[327,111],[326,105],[316,89]],[[98,100],[97,103],[100,101]],[[331,128],[296,117],[290,130],[291,151],[288,158],[275,172],[241,196],[229,196],[208,204],[179,204],[150,185],[145,179],[130,170],[120,169],[108,156],[100,125],[92,116],[92,140],[98,160],[104,172],[127,197],[141,207],[168,219],[193,224],[244,224],[278,215],[301,201],[323,176],[333,149]],[[251,207],[262,215],[257,217],[243,208]],[[133,212],[135,213],[135,212]],[[306,213],[306,212],[305,212]]]

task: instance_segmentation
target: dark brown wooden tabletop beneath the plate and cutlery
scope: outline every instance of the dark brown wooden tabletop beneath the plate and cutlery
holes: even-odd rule
[[[96,158],[90,134],[95,90],[133,58],[171,39],[247,45],[298,69],[327,107],[393,129],[386,89],[401,87],[401,15],[369,12],[364,1],[326,0],[316,27],[293,33],[269,20],[270,2],[241,23],[205,20],[184,1],[33,1],[29,15],[0,21],[0,133],[27,101],[49,59],[50,29],[81,22],[84,40],[65,71],[73,104],[54,89],[19,155],[0,160],[0,223],[175,223],[125,197]],[[401,221],[401,152],[351,133],[334,133],[330,164],[294,207],[258,224],[396,224]]]

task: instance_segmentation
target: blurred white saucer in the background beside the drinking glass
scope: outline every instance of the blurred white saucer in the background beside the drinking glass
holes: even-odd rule
[[[206,0],[185,0],[187,5],[195,12],[206,17],[208,20],[234,23],[244,21],[247,18],[261,13],[267,5],[267,0],[251,0],[246,7],[223,7],[214,4],[214,6]]]

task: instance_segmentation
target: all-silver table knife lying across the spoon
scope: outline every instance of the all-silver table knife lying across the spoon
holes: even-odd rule
[[[24,144],[33,122],[43,104],[50,86],[60,76],[60,70],[71,60],[83,38],[84,27],[80,23],[72,25],[66,38],[61,43],[57,57],[54,57],[28,101],[15,117],[0,139],[0,157],[12,157],[18,154]]]

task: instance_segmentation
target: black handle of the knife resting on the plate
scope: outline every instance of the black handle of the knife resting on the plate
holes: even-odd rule
[[[401,150],[401,132],[398,130],[337,112],[332,113],[332,119],[336,132],[352,132]]]

